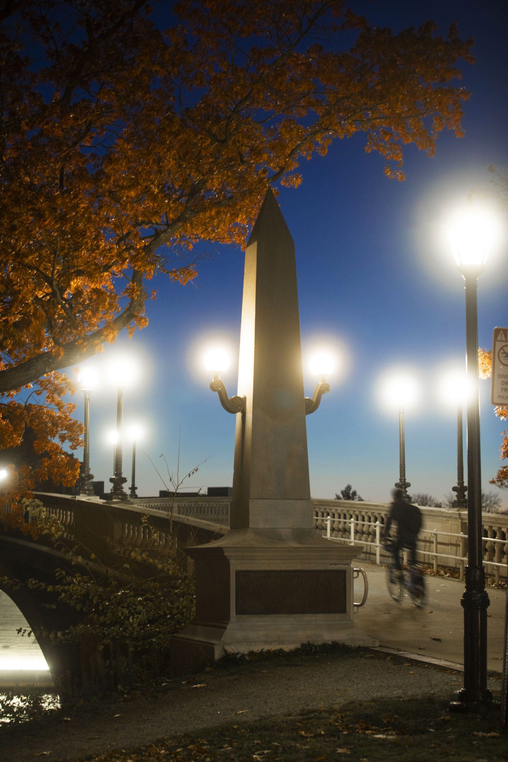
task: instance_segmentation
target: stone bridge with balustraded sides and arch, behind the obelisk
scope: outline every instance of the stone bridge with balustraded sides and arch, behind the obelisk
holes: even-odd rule
[[[209,543],[229,531],[230,498],[206,495],[177,498],[137,498],[127,503],[103,501],[53,493],[35,495],[64,528],[69,546],[81,546],[83,564],[95,556],[114,568],[123,560],[122,552],[138,548],[165,554],[176,539],[177,547]],[[316,532],[331,542],[354,543],[359,559],[380,564],[386,561],[380,543],[382,524],[388,505],[357,501],[314,500]],[[467,514],[465,511],[423,507],[423,530],[418,545],[420,562],[458,568],[460,577],[466,561]],[[149,518],[147,523],[145,517]],[[25,520],[30,522],[30,511]],[[508,561],[508,516],[484,514],[484,564],[487,575],[499,584],[506,578]],[[18,531],[0,534],[0,575],[27,582],[30,578],[52,584],[56,570],[71,568],[67,555],[56,550],[44,536],[37,541]],[[189,565],[192,562],[188,561]],[[190,571],[190,568],[188,568]],[[30,628],[45,632],[67,629],[77,623],[77,613],[70,607],[45,606],[49,598],[26,586],[17,590],[5,587],[5,593],[21,610]],[[86,683],[86,658],[78,645],[52,645],[40,638],[39,645],[55,680]]]

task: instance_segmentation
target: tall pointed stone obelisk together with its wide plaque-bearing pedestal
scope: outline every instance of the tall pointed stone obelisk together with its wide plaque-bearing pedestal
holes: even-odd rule
[[[312,528],[295,245],[267,191],[245,251],[230,531],[187,549],[196,619],[171,639],[177,671],[225,651],[377,645],[353,623],[359,549]]]

